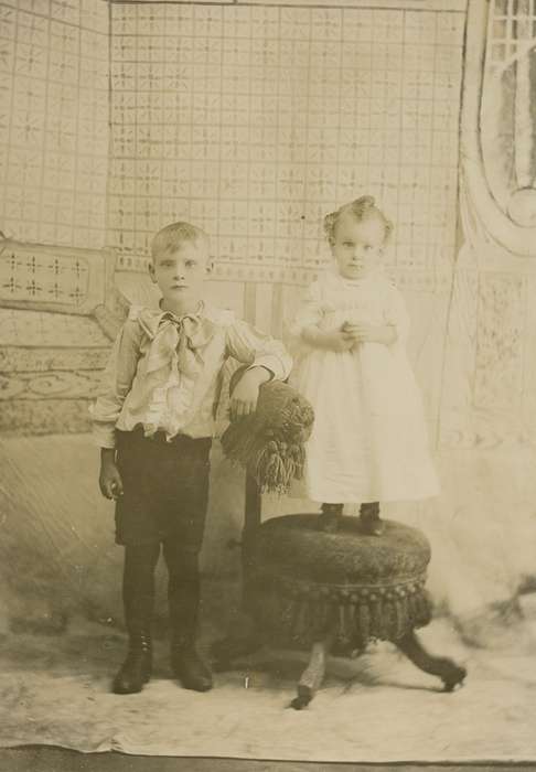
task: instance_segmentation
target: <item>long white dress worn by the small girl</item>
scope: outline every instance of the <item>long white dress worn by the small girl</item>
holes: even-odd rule
[[[300,339],[308,325],[336,330],[345,321],[394,324],[397,341],[339,353]],[[363,503],[438,493],[419,387],[406,353],[408,329],[404,300],[380,270],[357,280],[326,271],[310,286],[290,328],[296,357],[290,383],[315,414],[307,446],[309,498]]]

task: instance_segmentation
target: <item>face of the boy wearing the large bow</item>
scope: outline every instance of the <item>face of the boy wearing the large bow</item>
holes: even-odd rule
[[[157,255],[149,264],[152,281],[171,303],[201,300],[211,270],[208,248],[202,240],[183,242],[175,251]]]

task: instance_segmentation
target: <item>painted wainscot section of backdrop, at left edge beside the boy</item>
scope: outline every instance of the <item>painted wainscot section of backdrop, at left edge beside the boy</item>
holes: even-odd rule
[[[4,242],[0,431],[87,431],[117,320],[105,250]]]

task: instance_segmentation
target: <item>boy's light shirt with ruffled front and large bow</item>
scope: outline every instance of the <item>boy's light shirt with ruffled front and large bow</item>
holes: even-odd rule
[[[266,367],[277,379],[287,378],[292,366],[282,343],[232,311],[205,307],[176,317],[132,307],[92,408],[96,443],[115,448],[116,429],[130,431],[139,425],[147,436],[213,437],[222,368],[229,356]]]

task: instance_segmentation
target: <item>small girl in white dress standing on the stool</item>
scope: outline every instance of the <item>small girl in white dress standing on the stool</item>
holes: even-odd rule
[[[333,266],[309,288],[291,325],[291,383],[312,404],[305,485],[336,528],[360,503],[364,533],[380,535],[379,502],[436,495],[419,389],[405,344],[408,315],[382,270],[392,223],[363,196],[326,215]]]

